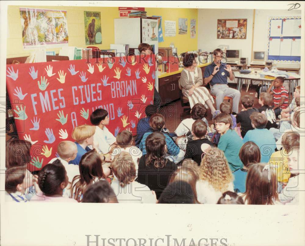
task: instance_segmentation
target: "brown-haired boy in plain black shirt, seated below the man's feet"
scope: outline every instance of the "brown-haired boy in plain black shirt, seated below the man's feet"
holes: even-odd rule
[[[250,115],[258,110],[253,108],[254,99],[249,95],[242,97],[242,110],[236,115],[236,123],[240,123],[240,133],[245,137],[247,131],[253,130],[251,125]]]

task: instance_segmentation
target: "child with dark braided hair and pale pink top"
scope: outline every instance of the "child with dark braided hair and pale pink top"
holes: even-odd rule
[[[63,190],[68,182],[66,169],[57,159],[39,171],[38,186],[41,192],[34,195],[30,201],[76,202],[74,199],[63,197]]]

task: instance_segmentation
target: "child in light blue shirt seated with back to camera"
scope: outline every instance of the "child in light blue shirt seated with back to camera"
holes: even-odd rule
[[[252,141],[260,148],[261,162],[267,163],[270,155],[274,152],[275,139],[271,131],[265,129],[267,117],[259,112],[250,115],[251,124],[254,130],[249,130],[243,138],[243,142]]]

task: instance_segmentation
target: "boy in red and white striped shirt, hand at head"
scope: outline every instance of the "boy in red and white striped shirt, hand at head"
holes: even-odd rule
[[[285,89],[283,84],[284,78],[280,76],[276,77],[267,90],[267,93],[273,95],[273,110],[276,117],[281,114],[282,109],[286,109],[288,107],[288,91]],[[274,89],[271,91],[273,86]]]

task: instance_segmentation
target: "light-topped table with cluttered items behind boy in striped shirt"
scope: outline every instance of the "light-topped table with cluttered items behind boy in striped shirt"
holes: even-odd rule
[[[242,84],[244,80],[258,80],[262,81],[263,83],[268,84],[268,87],[270,86],[270,82],[273,81],[272,79],[266,79],[260,77],[259,74],[246,74],[246,73],[239,73],[239,72],[234,72],[234,77],[237,79],[237,90],[241,91],[242,90]],[[293,74],[293,79],[286,79],[284,78],[285,81],[288,81],[289,83],[289,89],[288,89],[288,94],[289,94],[289,101],[290,101],[290,96],[293,95],[294,88],[299,84],[299,81],[301,79],[301,76],[298,74]]]

